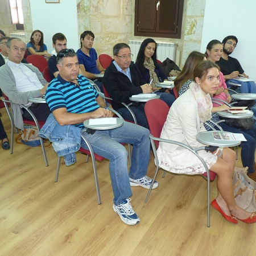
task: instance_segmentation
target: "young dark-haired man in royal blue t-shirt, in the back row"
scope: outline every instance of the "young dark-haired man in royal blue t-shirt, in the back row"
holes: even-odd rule
[[[103,74],[105,71],[98,60],[96,50],[93,48],[94,38],[92,31],[82,32],[80,35],[81,48],[77,50],[76,54],[82,74],[86,78],[93,80],[103,92],[101,79],[95,79],[94,76]]]

